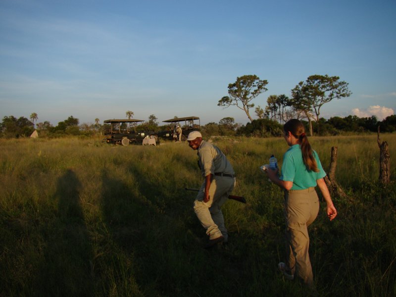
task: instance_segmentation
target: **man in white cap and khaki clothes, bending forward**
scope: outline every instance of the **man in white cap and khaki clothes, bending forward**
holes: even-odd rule
[[[198,164],[205,178],[194,201],[194,211],[209,242],[205,248],[228,241],[221,206],[227,201],[235,186],[235,172],[224,153],[216,146],[202,140],[198,131],[187,137],[190,148],[198,150]]]

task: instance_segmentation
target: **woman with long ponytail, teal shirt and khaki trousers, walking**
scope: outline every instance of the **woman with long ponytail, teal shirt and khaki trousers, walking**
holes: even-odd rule
[[[316,185],[326,201],[326,212],[330,221],[337,216],[337,210],[323,179],[326,172],[322,168],[318,154],[308,142],[303,124],[297,119],[292,119],[283,129],[290,148],[283,156],[281,176],[278,178],[278,170],[266,169],[271,181],[285,189],[286,262],[280,262],[278,267],[287,279],[292,280],[297,274],[313,289],[307,228],[319,212]]]

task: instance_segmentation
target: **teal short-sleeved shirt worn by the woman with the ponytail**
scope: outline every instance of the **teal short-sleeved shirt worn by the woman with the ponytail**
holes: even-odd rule
[[[316,186],[316,180],[326,176],[316,151],[312,150],[319,172],[307,170],[302,159],[300,145],[291,146],[283,156],[280,179],[293,182],[292,190],[305,190]]]

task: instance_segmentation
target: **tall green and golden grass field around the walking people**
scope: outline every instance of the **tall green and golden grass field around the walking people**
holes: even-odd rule
[[[310,227],[319,296],[396,296],[396,170],[378,185],[377,136],[311,137],[323,167],[338,147],[348,199]],[[259,166],[283,138],[213,140],[237,173],[223,206],[229,243],[212,250],[193,207],[202,182],[187,143],[0,140],[0,296],[306,296],[284,260],[282,191]],[[396,156],[396,134],[381,135]]]

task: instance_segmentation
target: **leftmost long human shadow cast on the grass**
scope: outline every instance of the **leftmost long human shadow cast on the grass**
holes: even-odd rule
[[[59,177],[53,199],[57,213],[46,230],[38,296],[90,296],[93,292],[91,240],[80,205],[81,182],[72,169]]]

